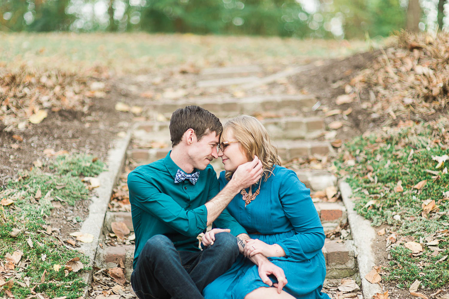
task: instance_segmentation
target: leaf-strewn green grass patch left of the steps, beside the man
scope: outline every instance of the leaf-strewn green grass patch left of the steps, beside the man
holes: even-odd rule
[[[90,169],[87,161],[90,161]],[[58,232],[49,235],[45,228],[53,208],[52,201],[75,206],[77,202],[87,200],[89,191],[79,175],[95,176],[104,165],[99,161],[92,162],[91,156],[76,155],[57,157],[48,166],[55,173],[33,169],[0,189],[0,199],[14,202],[0,206],[0,260],[6,265],[8,253],[23,253],[13,269],[2,271],[0,267],[0,280],[15,281],[10,289],[0,289],[0,297],[6,296],[6,291],[17,299],[26,298],[32,291],[50,298],[67,296],[75,299],[82,295],[85,283],[80,277],[81,271],[66,273],[64,265],[74,257],[79,257],[85,265],[89,257],[66,248]],[[39,193],[40,198],[36,198]],[[54,265],[61,268],[55,269]],[[84,267],[84,270],[88,269]]]

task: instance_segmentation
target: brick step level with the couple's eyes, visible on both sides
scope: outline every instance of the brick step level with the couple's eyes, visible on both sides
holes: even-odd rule
[[[289,161],[294,158],[308,157],[313,154],[326,155],[333,152],[331,145],[326,141],[313,140],[276,140],[278,154],[282,160]],[[167,156],[171,147],[132,149],[127,152],[127,158],[131,158],[141,164],[148,164]]]

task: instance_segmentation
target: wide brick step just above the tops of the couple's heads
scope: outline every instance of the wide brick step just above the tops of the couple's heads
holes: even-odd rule
[[[150,117],[163,114],[170,118],[173,111],[187,105],[198,105],[209,110],[218,117],[232,117],[238,114],[252,114],[255,112],[287,113],[293,111],[310,111],[317,103],[314,95],[264,95],[247,98],[193,98],[183,100],[147,101],[146,106]]]

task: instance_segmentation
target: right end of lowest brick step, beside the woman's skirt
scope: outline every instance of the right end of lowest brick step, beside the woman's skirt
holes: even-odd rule
[[[357,273],[357,260],[352,240],[326,238],[322,248],[326,259],[326,278],[344,278]]]

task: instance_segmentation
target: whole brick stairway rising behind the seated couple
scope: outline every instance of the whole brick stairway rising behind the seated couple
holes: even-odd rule
[[[244,69],[242,73],[249,76],[260,74],[257,67]],[[229,75],[229,79],[239,78],[238,68],[210,69],[198,76],[203,82],[204,76]],[[251,78],[251,77],[247,77]],[[214,79],[216,80],[216,79]],[[220,79],[223,81],[223,79]],[[262,79],[259,79],[263,81]],[[230,82],[230,81],[229,81]],[[197,104],[216,114],[221,121],[238,114],[249,114],[259,117],[264,126],[273,136],[280,156],[284,161],[309,159],[310,157],[324,157],[334,155],[335,150],[323,135],[326,133],[324,116],[313,110],[317,103],[313,95],[259,95],[245,98],[235,97],[195,97],[184,100],[146,101],[146,121],[135,126],[132,145],[128,147],[128,165],[142,165],[164,158],[170,150],[168,124],[171,113],[177,108],[188,104]],[[211,163],[217,173],[223,170],[220,159]],[[124,185],[130,169],[125,169],[122,175],[121,187]],[[311,189],[313,194],[321,192],[321,197],[313,197],[315,207],[325,228],[326,238],[323,253],[326,258],[326,278],[355,277],[357,260],[351,234],[347,225],[347,212],[341,201],[322,196],[328,188],[336,188],[335,176],[326,169],[301,168],[294,169],[298,178]],[[123,190],[126,192],[127,190]],[[126,192],[127,193],[127,192]],[[121,207],[116,211],[114,205],[106,212],[103,227],[102,248],[98,248],[96,263],[98,268],[115,267],[121,259],[125,265],[125,273],[129,279],[132,273],[132,258],[134,245],[132,238],[125,242],[115,242],[111,237],[113,231],[111,223],[123,222],[131,234],[133,232],[129,207]],[[345,227],[341,237],[340,228]],[[343,238],[344,237],[344,238]],[[108,246],[115,245],[115,246]]]

